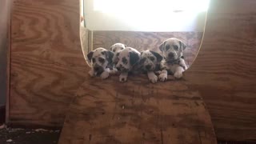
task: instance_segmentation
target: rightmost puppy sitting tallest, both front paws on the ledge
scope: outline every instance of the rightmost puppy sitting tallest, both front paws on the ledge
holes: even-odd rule
[[[169,38],[162,42],[159,49],[164,58],[160,64],[159,80],[166,81],[167,74],[174,74],[174,78],[182,78],[183,71],[187,69],[183,58],[183,50],[186,49],[186,45],[178,38]]]

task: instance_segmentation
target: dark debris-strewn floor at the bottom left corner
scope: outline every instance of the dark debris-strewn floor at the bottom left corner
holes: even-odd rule
[[[0,144],[57,144],[60,130],[14,129],[0,126]]]

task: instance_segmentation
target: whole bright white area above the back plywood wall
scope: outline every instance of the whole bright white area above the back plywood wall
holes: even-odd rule
[[[90,25],[93,30],[100,30],[99,27],[102,26],[108,27],[110,30],[119,30],[122,29],[122,26],[126,26],[125,30],[138,31],[193,29],[198,24],[198,15],[206,12],[210,2],[210,0],[87,1],[93,1],[94,5],[93,12],[88,11],[88,17],[86,17],[88,22],[94,21]],[[92,13],[94,16],[91,15]],[[99,17],[100,15],[104,16],[102,17],[104,22]]]

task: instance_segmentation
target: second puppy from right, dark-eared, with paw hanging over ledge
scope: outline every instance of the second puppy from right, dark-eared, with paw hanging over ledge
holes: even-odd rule
[[[158,76],[154,74],[155,71],[160,70],[160,62],[162,56],[152,50],[144,50],[141,52],[141,60],[139,62],[143,72],[146,72],[150,82],[158,82]]]

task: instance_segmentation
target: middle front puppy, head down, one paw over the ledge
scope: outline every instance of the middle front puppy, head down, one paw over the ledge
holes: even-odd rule
[[[134,48],[127,47],[126,49],[120,51],[118,54],[118,63],[116,65],[118,71],[121,72],[119,76],[120,82],[127,81],[128,72],[136,70],[140,58],[140,53]]]

